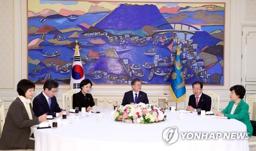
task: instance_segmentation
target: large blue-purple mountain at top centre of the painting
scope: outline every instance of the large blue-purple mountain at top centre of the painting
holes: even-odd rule
[[[93,26],[101,30],[138,30],[145,25],[157,27],[167,21],[155,5],[120,4]]]

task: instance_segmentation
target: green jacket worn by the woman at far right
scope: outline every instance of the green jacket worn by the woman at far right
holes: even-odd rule
[[[236,110],[234,110],[233,114],[231,113],[232,107],[233,107],[234,101],[230,101],[227,105],[227,107],[221,111],[221,113],[225,114],[226,117],[239,120],[243,122],[246,125],[248,136],[252,135],[252,125],[250,122],[250,116],[249,116],[249,105],[242,99],[237,107]]]

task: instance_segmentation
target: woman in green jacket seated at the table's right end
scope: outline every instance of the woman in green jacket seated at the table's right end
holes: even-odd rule
[[[243,100],[245,89],[243,85],[234,85],[229,89],[230,102],[227,107],[216,114],[216,116],[226,116],[243,122],[247,127],[248,136],[252,135],[252,125],[249,117],[249,105]]]

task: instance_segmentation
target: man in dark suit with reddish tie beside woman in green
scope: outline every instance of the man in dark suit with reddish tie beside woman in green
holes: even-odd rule
[[[197,109],[210,111],[211,97],[203,94],[203,83],[196,81],[192,87],[194,94],[189,96],[187,111],[197,111]]]

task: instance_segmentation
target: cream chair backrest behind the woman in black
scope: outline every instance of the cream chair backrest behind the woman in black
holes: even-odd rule
[[[73,109],[73,94],[77,93],[75,90],[70,90],[62,94],[62,109]]]

